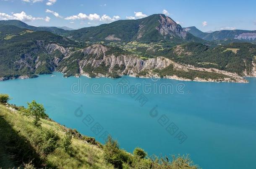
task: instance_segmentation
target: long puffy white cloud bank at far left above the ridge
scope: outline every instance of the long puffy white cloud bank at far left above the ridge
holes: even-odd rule
[[[21,20],[25,22],[29,22],[33,20],[45,20],[46,22],[49,22],[51,18],[33,17],[31,15],[27,15],[24,11],[22,11],[21,13],[12,13],[12,15],[8,15],[6,13],[0,13],[0,20],[9,20],[9,19]]]

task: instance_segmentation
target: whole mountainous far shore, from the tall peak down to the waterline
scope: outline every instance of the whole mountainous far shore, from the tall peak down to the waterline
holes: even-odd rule
[[[17,20],[0,21],[0,80],[30,78],[53,71],[66,77],[129,75],[232,82],[246,82],[242,76],[256,76],[256,45],[195,43],[206,41],[191,33],[212,33],[203,33],[196,27],[183,29],[162,14],[60,30]]]

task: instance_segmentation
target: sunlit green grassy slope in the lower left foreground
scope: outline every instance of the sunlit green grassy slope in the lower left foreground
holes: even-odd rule
[[[8,143],[9,146],[9,144],[14,141],[15,145],[31,146],[31,149],[36,151],[36,148],[30,144],[30,140],[37,133],[41,132],[42,129],[35,128],[31,121],[32,119],[22,116],[18,111],[14,112],[3,105],[0,105],[0,166],[3,168],[20,166],[20,161],[15,161],[12,158],[12,154],[9,154],[10,151],[6,152],[3,150],[3,147],[6,146],[5,143]],[[65,127],[56,122],[42,120],[42,127],[53,129],[60,138],[64,136]],[[58,147],[46,157],[41,158],[42,165],[63,169],[113,168],[112,165],[106,164],[103,160],[102,149],[76,138],[73,138],[72,140],[72,149],[74,152],[72,155],[66,153],[61,147]],[[36,154],[36,152],[31,153]]]

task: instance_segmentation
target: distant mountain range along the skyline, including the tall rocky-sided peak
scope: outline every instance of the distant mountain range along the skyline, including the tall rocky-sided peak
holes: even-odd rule
[[[109,24],[74,30],[68,27],[31,26],[19,20],[0,20],[0,25],[14,25],[34,31],[49,31],[78,41],[160,41],[199,42],[225,40],[228,42],[256,42],[256,30],[219,30],[202,32],[196,27],[182,28],[163,14],[138,20],[118,20]]]

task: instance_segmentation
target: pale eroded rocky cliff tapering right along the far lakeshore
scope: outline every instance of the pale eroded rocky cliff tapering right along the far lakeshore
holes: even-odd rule
[[[246,83],[247,81],[238,76],[236,73],[230,73],[227,71],[221,71],[214,68],[196,68],[190,65],[181,65],[168,58],[156,57],[148,60],[142,60],[136,55],[131,54],[107,54],[111,51],[110,48],[103,45],[91,45],[87,48],[78,51],[81,55],[70,55],[62,62],[67,62],[64,66],[60,67],[58,71],[70,75],[73,70],[70,69],[68,64],[74,67],[74,63],[77,64],[78,71],[73,74],[76,76],[83,75],[88,77],[117,77],[122,75],[128,75],[133,77],[159,77],[159,74],[154,70],[162,70],[168,66],[172,66],[175,71],[198,71],[217,73],[225,75],[222,79],[210,79],[197,77],[195,81],[226,81],[226,82],[240,82]],[[189,78],[183,78],[180,76],[164,76],[164,78],[172,78],[178,80],[191,80]]]

